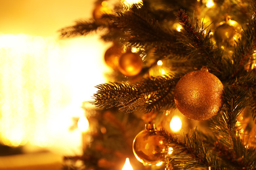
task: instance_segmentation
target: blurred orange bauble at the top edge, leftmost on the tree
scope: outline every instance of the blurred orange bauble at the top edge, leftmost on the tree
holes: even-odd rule
[[[93,18],[96,21],[101,21],[101,17],[103,14],[112,14],[112,10],[108,7],[107,1],[102,1],[102,3],[98,3],[93,10]]]

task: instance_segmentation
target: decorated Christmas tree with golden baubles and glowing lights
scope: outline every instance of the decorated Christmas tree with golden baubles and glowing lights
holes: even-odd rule
[[[82,165],[66,169],[125,158],[134,169],[256,169],[255,12],[241,0],[96,1],[91,19],[61,29],[113,42],[114,81],[96,86],[95,131],[83,156],[66,157]],[[175,115],[177,133],[166,126]]]

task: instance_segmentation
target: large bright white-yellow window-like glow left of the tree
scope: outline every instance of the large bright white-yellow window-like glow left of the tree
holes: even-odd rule
[[[102,55],[95,45],[98,42],[95,37],[60,41],[54,37],[0,35],[3,144],[30,143],[62,147],[65,154],[79,152],[81,132],[70,132],[69,128],[74,124],[72,117],[81,116],[83,101],[91,100],[96,92],[95,84],[105,82],[104,63],[99,67],[100,62],[90,57]],[[67,145],[73,148],[68,151]]]

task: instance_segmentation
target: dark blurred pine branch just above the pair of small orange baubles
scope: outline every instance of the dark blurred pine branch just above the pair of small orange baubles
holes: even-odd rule
[[[123,41],[129,46],[140,48],[154,48],[161,56],[174,54],[175,56],[186,56],[186,51],[177,42],[177,36],[167,27],[163,27],[156,14],[148,10],[144,5],[133,5],[126,12],[117,12],[114,25],[122,29],[126,36]]]

